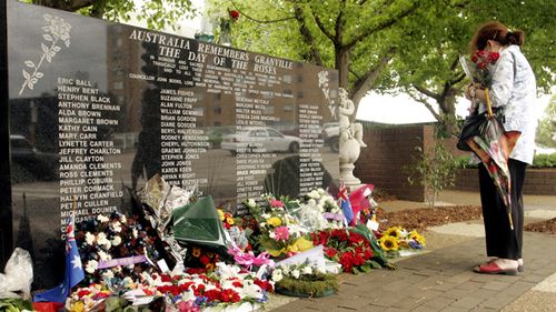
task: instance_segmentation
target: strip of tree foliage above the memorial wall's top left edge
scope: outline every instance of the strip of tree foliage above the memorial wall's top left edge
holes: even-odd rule
[[[79,12],[109,21],[129,21],[133,17],[147,22],[150,29],[176,29],[182,17],[195,14],[191,0],[26,0],[34,4]]]

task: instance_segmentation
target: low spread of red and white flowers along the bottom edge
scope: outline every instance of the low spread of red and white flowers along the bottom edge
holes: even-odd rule
[[[66,302],[68,311],[108,311],[110,299],[118,299],[119,306],[147,305],[147,311],[201,311],[209,308],[228,308],[257,304],[268,301],[274,292],[274,282],[259,279],[257,274],[241,271],[238,266],[217,263],[210,274],[141,274],[141,282],[123,281],[119,293],[101,284],[78,289]],[[152,310],[157,298],[163,298],[163,305]],[[116,311],[116,310],[110,310]],[[137,311],[137,310],[133,310]],[[143,310],[140,310],[143,311]]]

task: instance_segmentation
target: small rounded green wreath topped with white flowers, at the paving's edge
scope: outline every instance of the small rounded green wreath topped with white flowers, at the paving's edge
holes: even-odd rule
[[[331,295],[338,291],[338,280],[334,274],[321,272],[309,263],[282,264],[272,271],[277,293],[300,298]]]

